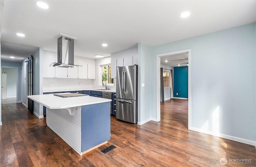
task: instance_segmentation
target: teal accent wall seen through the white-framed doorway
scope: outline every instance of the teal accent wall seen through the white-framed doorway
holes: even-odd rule
[[[173,71],[173,96],[188,98],[188,66],[174,67]]]

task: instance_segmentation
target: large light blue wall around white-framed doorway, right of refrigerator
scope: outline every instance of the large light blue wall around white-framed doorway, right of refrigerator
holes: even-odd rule
[[[148,110],[140,114],[150,110],[152,118],[156,118],[156,55],[192,49],[191,126],[256,141],[255,27],[249,24],[152,47],[146,60],[152,62],[152,73],[148,75],[152,76],[151,107],[150,101],[141,103],[140,108]],[[147,73],[141,75],[147,77]],[[148,99],[146,92],[141,91],[141,99]]]

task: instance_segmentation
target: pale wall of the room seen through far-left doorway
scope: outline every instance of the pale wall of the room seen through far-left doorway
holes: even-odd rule
[[[2,72],[7,74],[7,98],[17,97],[17,73],[18,68],[2,68]]]

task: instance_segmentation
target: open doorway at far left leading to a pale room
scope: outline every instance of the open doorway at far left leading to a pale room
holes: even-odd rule
[[[1,68],[2,104],[17,103],[18,97],[18,68]]]

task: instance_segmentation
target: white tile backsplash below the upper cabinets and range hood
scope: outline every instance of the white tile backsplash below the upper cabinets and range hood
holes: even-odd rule
[[[44,78],[43,91],[92,89],[92,79]]]

